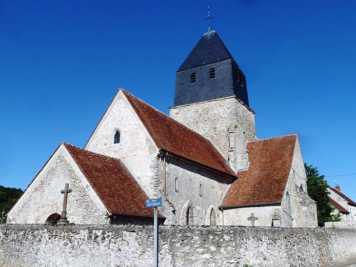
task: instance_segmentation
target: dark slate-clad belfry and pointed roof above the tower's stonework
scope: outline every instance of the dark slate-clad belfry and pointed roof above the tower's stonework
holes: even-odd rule
[[[217,32],[207,32],[176,72],[174,105],[233,95],[249,105],[245,75]]]

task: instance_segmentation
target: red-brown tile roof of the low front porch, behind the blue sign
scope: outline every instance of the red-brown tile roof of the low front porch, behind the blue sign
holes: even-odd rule
[[[153,217],[148,196],[119,159],[63,144],[110,213]]]

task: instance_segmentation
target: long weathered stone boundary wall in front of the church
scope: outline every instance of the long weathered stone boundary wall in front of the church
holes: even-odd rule
[[[0,267],[150,267],[152,226],[0,226]],[[325,267],[356,229],[160,226],[160,267]]]

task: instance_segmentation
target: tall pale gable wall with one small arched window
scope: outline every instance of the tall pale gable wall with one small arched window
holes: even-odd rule
[[[117,130],[120,132],[120,143],[114,144]],[[158,148],[121,91],[85,149],[121,159],[148,196],[152,198],[157,195],[154,166]]]

